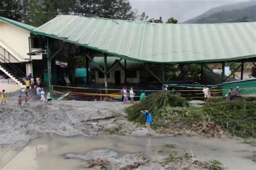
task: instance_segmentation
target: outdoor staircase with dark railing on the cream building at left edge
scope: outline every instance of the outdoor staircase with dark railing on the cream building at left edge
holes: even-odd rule
[[[25,87],[26,74],[14,63],[20,63],[14,56],[0,46],[0,70],[14,80],[21,87]]]

